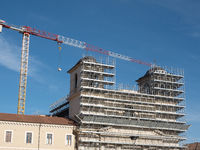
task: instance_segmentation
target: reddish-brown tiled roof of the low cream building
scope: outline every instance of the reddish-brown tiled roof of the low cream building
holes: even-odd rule
[[[74,122],[69,118],[20,115],[20,114],[8,114],[8,113],[0,113],[0,121],[42,123],[42,124],[54,124],[54,125],[74,125],[74,126],[78,125],[76,122]]]

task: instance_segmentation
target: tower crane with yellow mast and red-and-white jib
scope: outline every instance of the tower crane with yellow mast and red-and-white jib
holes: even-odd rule
[[[25,99],[26,99],[26,83],[27,83],[27,71],[28,71],[28,56],[29,56],[29,41],[30,35],[39,36],[52,41],[56,41],[58,44],[67,44],[81,49],[101,53],[104,55],[116,57],[119,59],[135,62],[138,64],[151,66],[151,63],[142,60],[135,59],[133,57],[121,55],[111,51],[104,50],[102,48],[90,45],[86,42],[78,41],[61,35],[49,33],[46,31],[38,30],[28,26],[16,26],[6,23],[4,20],[0,20],[0,33],[2,32],[2,27],[18,31],[23,34],[22,38],[22,51],[21,51],[21,66],[20,66],[20,80],[19,80],[19,94],[18,94],[18,107],[17,113],[24,114],[25,112]]]

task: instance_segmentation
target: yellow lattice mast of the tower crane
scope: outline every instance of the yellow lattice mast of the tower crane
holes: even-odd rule
[[[22,39],[22,53],[21,53],[21,66],[20,66],[17,114],[24,114],[24,112],[25,112],[29,39],[30,39],[30,34],[24,33],[23,39]]]

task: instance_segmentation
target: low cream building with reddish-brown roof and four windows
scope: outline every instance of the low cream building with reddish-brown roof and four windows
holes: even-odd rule
[[[1,150],[76,150],[68,118],[0,113]]]

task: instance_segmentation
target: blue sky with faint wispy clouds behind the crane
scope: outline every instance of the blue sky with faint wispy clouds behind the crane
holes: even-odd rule
[[[157,65],[184,69],[189,142],[200,142],[200,1],[186,0],[4,0],[0,19],[74,38]],[[0,34],[0,112],[16,113],[22,35]],[[25,114],[47,114],[69,93],[69,70],[85,51],[30,37]],[[91,55],[102,56],[89,52]],[[117,59],[117,83],[135,85],[149,68]]]

